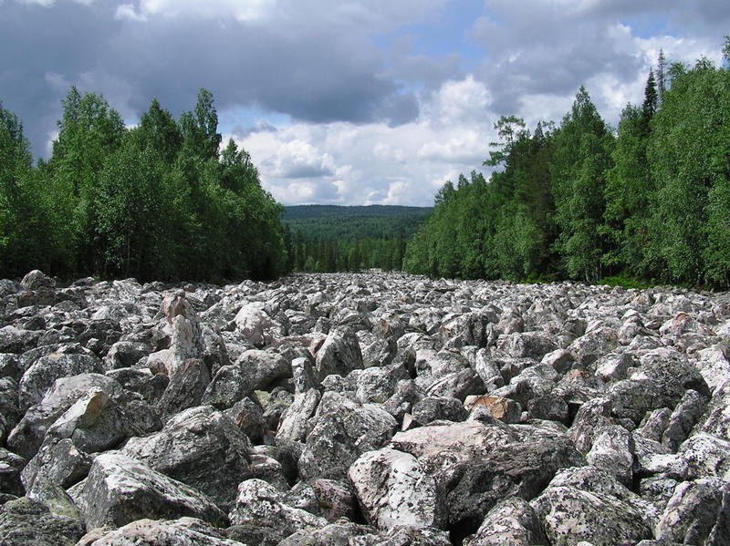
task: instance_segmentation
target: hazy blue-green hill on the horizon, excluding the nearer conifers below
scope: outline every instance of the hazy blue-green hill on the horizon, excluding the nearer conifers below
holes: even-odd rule
[[[431,211],[399,205],[296,205],[284,208],[283,220],[292,233],[301,231],[310,240],[408,238]]]

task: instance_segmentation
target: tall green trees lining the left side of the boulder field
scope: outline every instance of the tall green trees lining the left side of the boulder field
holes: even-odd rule
[[[140,123],[69,90],[48,160],[33,164],[0,103],[0,276],[142,281],[276,277],[287,270],[283,208],[248,153],[221,149],[213,95],[179,119],[152,100]]]

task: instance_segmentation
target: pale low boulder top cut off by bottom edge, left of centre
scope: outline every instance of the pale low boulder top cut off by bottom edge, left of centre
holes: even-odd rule
[[[137,520],[114,531],[95,530],[77,546],[241,546],[224,537],[223,531],[196,518]]]

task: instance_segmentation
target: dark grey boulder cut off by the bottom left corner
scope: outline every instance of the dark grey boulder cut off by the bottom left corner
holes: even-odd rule
[[[52,514],[46,506],[26,497],[0,507],[0,543],[3,546],[74,546],[84,524]]]

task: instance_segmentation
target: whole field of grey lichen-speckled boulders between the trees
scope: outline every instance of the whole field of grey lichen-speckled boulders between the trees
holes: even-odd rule
[[[0,544],[730,544],[730,294],[0,281]]]

